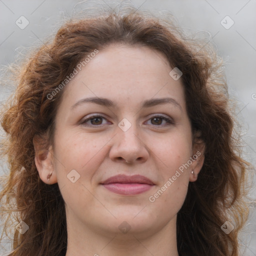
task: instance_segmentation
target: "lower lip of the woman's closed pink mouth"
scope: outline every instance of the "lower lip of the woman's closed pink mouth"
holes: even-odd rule
[[[149,190],[153,185],[140,183],[110,183],[103,184],[103,186],[117,194],[131,195],[143,193]]]

